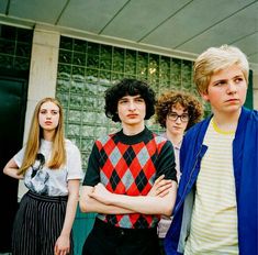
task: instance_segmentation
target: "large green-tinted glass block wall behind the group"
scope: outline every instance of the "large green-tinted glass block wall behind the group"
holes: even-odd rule
[[[65,109],[66,136],[80,148],[83,169],[93,141],[120,129],[104,114],[103,93],[124,77],[146,80],[157,95],[169,89],[197,93],[190,60],[60,37],[56,97]],[[160,132],[154,119],[146,124]]]

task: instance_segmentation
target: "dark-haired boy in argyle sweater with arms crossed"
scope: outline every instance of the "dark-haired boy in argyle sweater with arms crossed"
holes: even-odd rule
[[[80,198],[97,212],[86,255],[158,255],[159,215],[171,215],[177,176],[172,144],[145,126],[155,112],[155,92],[123,79],[105,92],[105,114],[122,130],[96,141]]]

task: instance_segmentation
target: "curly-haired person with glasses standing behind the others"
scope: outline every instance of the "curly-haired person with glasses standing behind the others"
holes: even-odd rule
[[[202,103],[190,93],[183,91],[167,91],[157,100],[156,121],[161,127],[166,129],[161,136],[168,138],[173,145],[178,181],[181,175],[179,153],[184,132],[201,121],[202,115]],[[171,218],[169,217],[161,217],[158,223],[158,236],[161,254],[165,254],[164,239],[170,223]]]

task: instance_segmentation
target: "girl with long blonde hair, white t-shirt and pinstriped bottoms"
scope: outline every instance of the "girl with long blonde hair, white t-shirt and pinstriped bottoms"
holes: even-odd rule
[[[3,173],[24,179],[29,191],[16,212],[13,255],[72,254],[71,228],[82,178],[80,152],[64,136],[64,113],[54,98],[42,99],[25,146]]]

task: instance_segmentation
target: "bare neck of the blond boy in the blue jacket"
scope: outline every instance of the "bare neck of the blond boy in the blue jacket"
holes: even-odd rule
[[[214,124],[222,131],[236,131],[240,111],[235,114],[215,114],[213,117]]]

